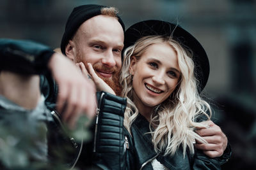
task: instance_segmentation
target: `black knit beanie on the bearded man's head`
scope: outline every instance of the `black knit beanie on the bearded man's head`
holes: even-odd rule
[[[65,32],[61,39],[61,52],[65,55],[65,48],[68,44],[68,41],[74,36],[77,29],[82,25],[86,20],[95,17],[97,15],[101,15],[101,9],[108,6],[102,6],[97,4],[85,4],[81,6],[77,6],[70,13],[67,24],[65,27]],[[124,22],[118,17],[118,22],[122,25],[123,30],[125,31]]]

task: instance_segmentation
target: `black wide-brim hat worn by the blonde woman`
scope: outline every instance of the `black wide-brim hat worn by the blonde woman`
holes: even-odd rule
[[[195,64],[195,77],[198,82],[198,92],[202,92],[209,78],[209,60],[203,46],[188,31],[177,24],[162,20],[145,20],[138,22],[125,31],[124,49],[144,36],[172,36],[184,48],[193,51],[193,62]]]

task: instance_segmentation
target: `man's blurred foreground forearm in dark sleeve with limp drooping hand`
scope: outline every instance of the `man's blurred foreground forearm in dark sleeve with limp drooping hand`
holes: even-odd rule
[[[57,110],[74,127],[79,115],[95,115],[95,87],[76,65],[48,46],[33,41],[0,39],[0,71],[31,75],[51,71],[59,87]],[[63,110],[65,108],[65,111]]]

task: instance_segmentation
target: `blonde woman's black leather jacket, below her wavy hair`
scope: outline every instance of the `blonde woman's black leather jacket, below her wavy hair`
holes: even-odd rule
[[[153,169],[151,165],[153,159],[157,159],[168,169],[221,169],[220,161],[217,158],[211,159],[200,150],[196,150],[195,154],[191,154],[187,150],[185,157],[183,157],[181,147],[173,157],[157,154],[152,145],[152,137],[150,134],[146,134],[147,132],[150,132],[149,123],[141,115],[138,115],[132,123],[132,137],[125,131],[129,142],[125,154],[127,169]]]

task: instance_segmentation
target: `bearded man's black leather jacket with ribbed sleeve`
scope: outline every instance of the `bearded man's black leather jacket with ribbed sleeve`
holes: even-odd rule
[[[95,169],[95,166],[121,169],[121,162],[124,162],[121,156],[124,153],[123,120],[126,99],[97,92],[97,118],[91,127],[93,138],[83,143],[81,150],[81,143],[68,136],[61,128],[62,122],[55,110],[58,85],[47,69],[52,53],[54,52],[48,46],[33,41],[0,39],[0,71],[40,74],[40,89],[45,96],[45,105],[54,119],[54,122],[49,122],[49,160],[63,162],[64,159],[64,164],[72,167],[79,158],[77,166],[81,169]],[[63,153],[63,148],[67,145],[68,150]],[[53,155],[56,151],[65,156],[57,160],[56,155]]]

